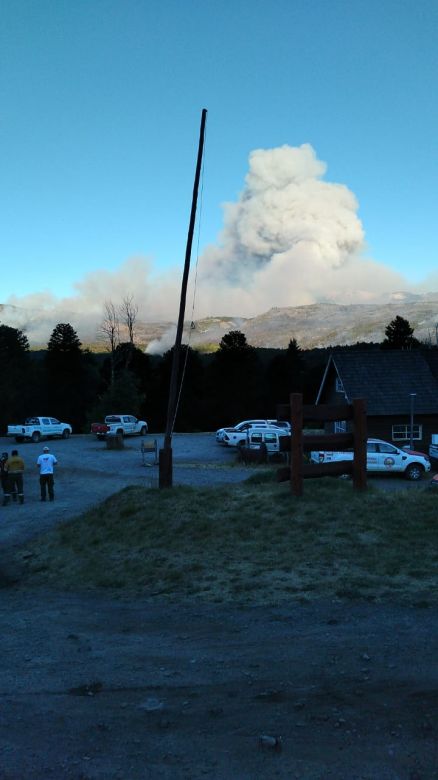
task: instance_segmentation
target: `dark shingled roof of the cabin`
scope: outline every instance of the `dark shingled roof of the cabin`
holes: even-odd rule
[[[335,350],[331,359],[348,402],[366,398],[368,414],[409,414],[411,393],[416,393],[416,414],[438,413],[438,374],[421,352]]]

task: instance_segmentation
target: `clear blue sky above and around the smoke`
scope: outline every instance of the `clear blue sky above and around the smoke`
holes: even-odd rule
[[[204,107],[201,253],[249,154],[310,144],[357,198],[366,255],[421,282],[437,44],[436,0],[4,0],[0,302],[132,257],[152,282],[182,267]]]

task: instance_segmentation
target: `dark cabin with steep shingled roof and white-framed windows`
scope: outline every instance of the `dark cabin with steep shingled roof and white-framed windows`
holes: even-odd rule
[[[367,432],[398,447],[427,452],[438,433],[438,352],[435,350],[334,350],[328,359],[317,404],[367,402]],[[344,421],[327,423],[327,433],[347,431]]]

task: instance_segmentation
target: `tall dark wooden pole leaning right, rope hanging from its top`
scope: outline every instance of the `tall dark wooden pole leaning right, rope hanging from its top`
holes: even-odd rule
[[[166,432],[164,435],[164,447],[159,454],[159,486],[172,487],[173,482],[173,464],[172,464],[172,432],[175,421],[175,412],[178,396],[178,374],[181,355],[181,341],[184,327],[184,314],[186,308],[187,282],[190,270],[190,257],[192,252],[193,232],[195,229],[196,206],[198,203],[199,178],[201,175],[202,154],[204,150],[205,120],[207,110],[202,109],[201,128],[199,131],[198,159],[196,163],[195,182],[193,185],[192,210],[190,212],[190,223],[187,234],[186,257],[184,262],[184,272],[181,283],[181,298],[179,304],[179,317],[176,329],[175,346],[173,348],[172,373],[170,375],[169,401],[167,405]]]

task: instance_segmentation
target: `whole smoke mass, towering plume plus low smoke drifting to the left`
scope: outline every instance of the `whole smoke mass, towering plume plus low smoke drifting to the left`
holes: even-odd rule
[[[383,302],[391,291],[409,289],[400,274],[366,258],[357,200],[325,175],[326,164],[309,144],[250,154],[242,192],[224,205],[218,242],[199,259],[194,318],[252,317],[272,306],[316,302]],[[57,322],[69,321],[81,338],[90,339],[104,302],[117,304],[129,295],[139,319],[175,322],[181,274],[182,267],[158,275],[151,260],[131,258],[115,271],[88,273],[68,298],[50,291],[11,296],[5,303],[17,307],[16,321],[7,324],[44,342]],[[192,294],[193,288],[189,319]]]

